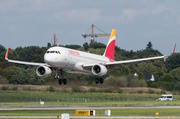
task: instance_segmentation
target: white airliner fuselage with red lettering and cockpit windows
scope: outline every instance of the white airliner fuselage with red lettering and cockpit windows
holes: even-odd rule
[[[52,47],[44,55],[44,61],[69,73],[92,74],[91,69],[84,69],[83,64],[107,63],[107,57],[82,52],[64,47]]]

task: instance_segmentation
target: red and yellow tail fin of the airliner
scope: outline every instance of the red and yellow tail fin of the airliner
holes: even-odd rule
[[[116,41],[116,29],[113,29],[106,46],[106,50],[103,55],[109,58],[110,60],[114,59],[115,41]]]

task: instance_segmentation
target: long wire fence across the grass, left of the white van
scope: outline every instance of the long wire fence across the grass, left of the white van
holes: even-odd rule
[[[110,101],[156,101],[159,96],[104,96],[104,97],[82,97],[82,96],[62,96],[62,97],[38,97],[38,96],[0,96],[0,102],[110,102]],[[180,100],[179,97],[174,97]]]

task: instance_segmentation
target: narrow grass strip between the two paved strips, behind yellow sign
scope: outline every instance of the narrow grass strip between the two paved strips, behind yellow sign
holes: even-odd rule
[[[92,108],[93,109],[93,108]],[[96,109],[96,116],[104,116],[107,109]],[[178,108],[136,108],[110,109],[111,116],[180,116]],[[68,113],[75,116],[75,110],[1,110],[0,116],[57,116]]]

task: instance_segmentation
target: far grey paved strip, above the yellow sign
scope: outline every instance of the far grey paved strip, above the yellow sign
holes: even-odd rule
[[[0,110],[57,110],[57,109],[121,109],[121,108],[180,108],[180,106],[82,106],[82,105],[26,105],[25,107],[0,107]]]

